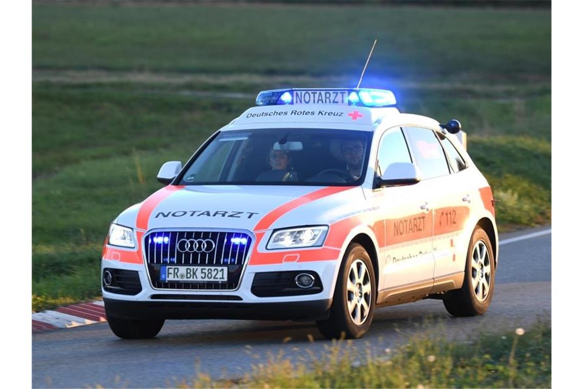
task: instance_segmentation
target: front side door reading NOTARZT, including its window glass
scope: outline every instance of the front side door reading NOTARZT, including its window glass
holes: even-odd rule
[[[388,129],[380,139],[377,175],[396,162],[412,163],[402,129]],[[430,282],[434,271],[432,255],[433,213],[429,205],[427,183],[377,188],[373,197],[385,224],[384,261],[380,289],[416,289],[420,282]],[[380,293],[383,296],[384,293]]]

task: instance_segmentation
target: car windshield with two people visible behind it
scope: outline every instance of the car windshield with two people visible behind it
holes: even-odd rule
[[[278,128],[218,134],[180,185],[360,185],[371,132]]]

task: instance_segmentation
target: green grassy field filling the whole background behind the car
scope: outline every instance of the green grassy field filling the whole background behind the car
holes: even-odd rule
[[[549,10],[33,4],[33,309],[100,294],[112,219],[262,89],[395,90],[468,133],[502,229],[551,218]]]

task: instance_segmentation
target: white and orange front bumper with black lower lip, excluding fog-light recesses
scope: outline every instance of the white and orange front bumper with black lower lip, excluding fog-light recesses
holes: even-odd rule
[[[107,292],[102,288],[106,313],[126,318],[225,318],[260,320],[321,320],[328,317],[338,260],[287,262],[246,267],[235,290],[156,289],[144,264],[102,258],[104,268],[135,271],[141,290],[134,295]],[[296,296],[258,297],[252,293],[257,272],[313,271],[322,281],[322,292]]]

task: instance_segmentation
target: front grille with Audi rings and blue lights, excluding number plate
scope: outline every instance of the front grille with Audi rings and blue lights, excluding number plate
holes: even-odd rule
[[[252,243],[252,237],[242,232],[151,232],[144,237],[144,250],[152,286],[181,290],[237,289]],[[227,266],[227,282],[161,282],[162,265]]]

